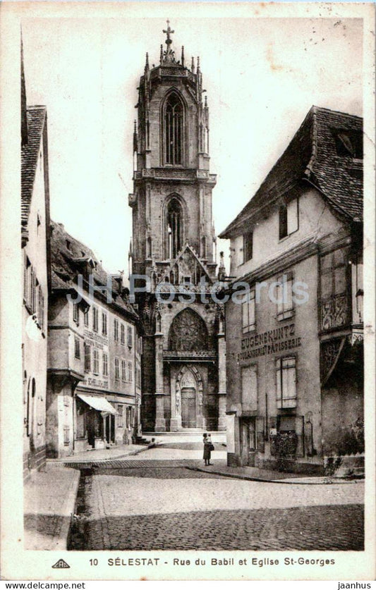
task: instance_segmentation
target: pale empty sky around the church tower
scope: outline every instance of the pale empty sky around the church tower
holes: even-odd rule
[[[182,44],[186,63],[200,56],[220,233],[310,106],[362,115],[363,21],[167,16],[178,59]],[[161,18],[22,21],[28,104],[47,105],[51,217],[111,272],[128,269],[136,88],[145,52],[159,63],[164,28]]]

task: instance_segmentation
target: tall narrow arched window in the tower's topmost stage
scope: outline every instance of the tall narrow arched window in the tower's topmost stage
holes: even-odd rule
[[[174,92],[164,109],[165,164],[183,164],[183,104]]]

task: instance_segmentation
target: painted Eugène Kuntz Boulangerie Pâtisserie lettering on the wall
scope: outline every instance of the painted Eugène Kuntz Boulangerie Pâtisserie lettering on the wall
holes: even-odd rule
[[[242,338],[242,352],[238,354],[238,361],[273,355],[275,352],[284,352],[299,346],[301,346],[301,337],[295,336],[295,324],[280,326],[274,330]]]

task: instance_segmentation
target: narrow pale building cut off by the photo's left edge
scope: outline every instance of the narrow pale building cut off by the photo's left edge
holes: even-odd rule
[[[47,111],[26,107],[21,61],[21,246],[23,250],[23,473],[46,462],[49,174]]]

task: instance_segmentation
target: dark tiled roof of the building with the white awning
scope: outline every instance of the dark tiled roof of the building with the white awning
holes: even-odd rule
[[[68,234],[62,223],[51,221],[51,288],[56,292],[61,289],[69,290],[77,287],[76,277],[83,274],[83,262],[92,261],[90,274],[93,276],[94,285],[107,285],[109,274],[99,263],[94,252],[85,244],[79,242]],[[119,293],[119,284],[114,278],[111,280],[112,302],[114,311],[119,311],[132,316],[133,321],[138,315],[126,297]],[[85,288],[85,286],[84,286]],[[104,293],[105,294],[105,293]]]

